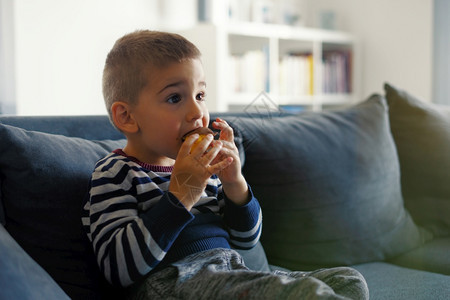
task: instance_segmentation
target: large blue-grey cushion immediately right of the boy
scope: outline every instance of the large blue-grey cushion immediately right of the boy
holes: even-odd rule
[[[292,270],[384,260],[429,238],[403,207],[385,99],[284,118],[228,119],[263,209],[270,264]]]

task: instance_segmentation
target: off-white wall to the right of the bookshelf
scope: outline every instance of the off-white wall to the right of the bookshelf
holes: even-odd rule
[[[325,9],[361,42],[363,97],[390,82],[431,100],[433,0],[309,0],[308,24]]]

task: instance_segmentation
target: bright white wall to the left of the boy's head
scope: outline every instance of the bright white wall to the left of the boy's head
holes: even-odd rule
[[[103,114],[101,77],[117,38],[158,23],[156,1],[15,0],[21,115]]]

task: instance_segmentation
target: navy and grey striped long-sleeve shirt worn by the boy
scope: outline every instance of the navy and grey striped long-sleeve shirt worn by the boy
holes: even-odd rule
[[[168,192],[172,167],[148,165],[116,150],[95,166],[83,225],[106,279],[129,286],[157,266],[213,249],[249,249],[261,234],[261,208],[228,200],[208,180],[188,211]]]

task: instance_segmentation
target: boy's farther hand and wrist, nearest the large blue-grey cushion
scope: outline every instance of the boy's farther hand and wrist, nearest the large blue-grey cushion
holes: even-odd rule
[[[223,190],[228,199],[237,205],[244,205],[248,202],[248,186],[241,173],[241,161],[239,151],[234,143],[233,129],[225,120],[220,118],[212,123],[212,127],[220,130],[219,141],[223,143],[223,147],[212,163],[231,159],[230,164],[220,169],[216,174],[222,182]]]

